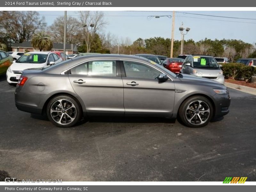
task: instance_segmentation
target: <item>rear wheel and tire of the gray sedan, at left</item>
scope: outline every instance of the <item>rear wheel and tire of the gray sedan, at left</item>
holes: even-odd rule
[[[74,126],[81,119],[82,109],[73,97],[58,95],[47,104],[46,115],[55,126],[67,128]]]

